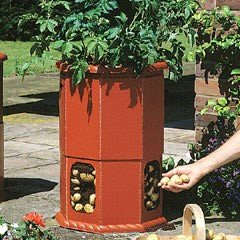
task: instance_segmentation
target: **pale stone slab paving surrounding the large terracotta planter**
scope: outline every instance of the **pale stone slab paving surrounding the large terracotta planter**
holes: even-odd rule
[[[139,236],[138,233],[98,235],[59,228],[54,220],[59,210],[58,77],[54,74],[28,77],[24,83],[5,78],[4,87],[5,196],[0,204],[1,215],[16,222],[29,211],[37,211],[44,215],[47,227],[59,239],[124,240]],[[194,141],[191,128],[191,119],[166,124],[165,157],[185,158],[186,143]],[[180,234],[181,218],[171,222],[176,230],[157,232]],[[219,232],[240,235],[239,222],[213,217],[207,222],[208,227]]]

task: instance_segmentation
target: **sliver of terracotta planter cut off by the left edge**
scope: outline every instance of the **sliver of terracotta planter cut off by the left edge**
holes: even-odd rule
[[[3,62],[7,60],[4,53],[0,53],[0,201],[4,178],[4,138],[3,138]]]

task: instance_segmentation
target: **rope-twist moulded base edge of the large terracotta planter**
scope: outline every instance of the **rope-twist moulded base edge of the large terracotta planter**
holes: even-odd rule
[[[145,232],[148,229],[160,226],[167,222],[164,217],[161,217],[142,224],[97,225],[67,220],[60,212],[56,214],[56,220],[61,227],[92,233]]]

